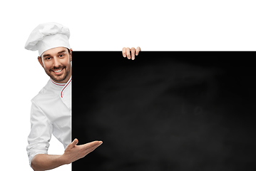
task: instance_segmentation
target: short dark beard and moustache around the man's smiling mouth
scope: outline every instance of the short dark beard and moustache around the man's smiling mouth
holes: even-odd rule
[[[59,69],[62,69],[63,70],[63,73],[61,73],[60,75],[57,75],[56,73],[53,72],[53,70],[59,70]],[[56,82],[59,82],[59,81],[63,81],[67,78],[68,74],[70,73],[71,71],[71,66],[69,65],[68,67],[67,66],[53,66],[53,68],[49,69],[49,70],[46,70],[46,68],[44,68],[44,71],[46,71],[46,74],[53,80],[53,81],[56,81]]]

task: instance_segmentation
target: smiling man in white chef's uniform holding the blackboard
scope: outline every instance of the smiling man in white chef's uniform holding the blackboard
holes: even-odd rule
[[[37,26],[26,41],[26,49],[39,51],[38,61],[50,77],[31,100],[31,132],[26,150],[33,170],[51,170],[69,164],[103,143],[96,140],[77,145],[77,139],[71,142],[72,48],[69,36],[66,26],[46,23]],[[123,57],[134,59],[139,51],[140,47],[123,48]],[[65,147],[63,155],[48,155],[52,134]]]

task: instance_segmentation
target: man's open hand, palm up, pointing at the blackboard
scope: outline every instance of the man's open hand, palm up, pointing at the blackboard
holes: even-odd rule
[[[71,162],[74,162],[78,159],[81,159],[88,155],[88,153],[92,152],[96,149],[96,147],[100,146],[103,142],[102,141],[93,141],[88,142],[83,145],[77,145],[78,140],[75,139],[73,142],[71,142],[65,149],[63,155],[63,161],[66,164],[69,164]]]

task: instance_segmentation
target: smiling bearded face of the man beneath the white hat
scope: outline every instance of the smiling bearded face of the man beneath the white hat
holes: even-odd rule
[[[56,83],[66,83],[71,77],[72,49],[64,47],[51,48],[39,57],[39,63],[46,74]]]

